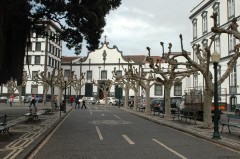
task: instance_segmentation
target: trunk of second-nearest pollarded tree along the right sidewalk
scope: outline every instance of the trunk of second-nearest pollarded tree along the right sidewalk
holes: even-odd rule
[[[170,119],[171,118],[171,86],[170,85],[165,85],[164,88],[165,91],[165,115],[164,118]]]

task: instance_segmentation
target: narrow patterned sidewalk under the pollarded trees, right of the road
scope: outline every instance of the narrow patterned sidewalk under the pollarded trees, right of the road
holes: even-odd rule
[[[186,123],[185,121],[180,122],[178,119],[167,120],[157,115],[150,115],[149,113],[134,111],[132,109],[123,108],[124,111],[130,112],[136,116],[142,117],[147,120],[151,120],[161,125],[165,125],[167,127],[177,129],[179,131],[186,132],[193,136],[208,140],[210,142],[214,142],[231,149],[240,151],[240,129],[231,128],[232,133],[230,134],[227,130],[227,127],[224,127],[224,130],[221,135],[221,140],[212,139],[213,129],[204,129],[203,122],[197,121],[197,124],[194,122]],[[219,127],[219,131],[221,131],[222,127]]]

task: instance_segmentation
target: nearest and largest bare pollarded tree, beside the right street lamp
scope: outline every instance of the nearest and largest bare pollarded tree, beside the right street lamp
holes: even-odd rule
[[[187,52],[183,49],[183,44],[182,44],[182,35],[180,35],[181,39],[181,47],[182,47],[182,55],[188,60],[189,64],[196,68],[201,74],[203,75],[204,82],[205,82],[205,89],[204,89],[204,103],[203,103],[203,109],[204,109],[204,127],[205,128],[211,128],[212,124],[212,118],[211,118],[211,105],[212,105],[212,97],[213,97],[213,75],[210,72],[210,56],[211,56],[211,47],[212,44],[215,40],[216,34],[231,34],[233,35],[236,39],[240,39],[240,33],[238,31],[238,24],[236,23],[236,19],[234,18],[229,25],[228,28],[223,29],[220,27],[217,27],[217,14],[214,13],[211,16],[214,19],[214,26],[212,27],[212,32],[214,33],[212,37],[210,38],[210,43],[208,46],[206,46],[204,49],[200,48],[200,45],[198,45],[195,49],[196,52],[196,57],[198,59],[198,62],[192,60]],[[238,55],[239,55],[239,47],[240,44],[236,44],[234,47],[234,52],[229,56],[229,62],[227,65],[227,69],[221,70],[221,73],[223,75],[221,78],[218,79],[218,86],[221,85],[224,80],[230,75],[231,70],[233,69],[233,66],[235,65]]]

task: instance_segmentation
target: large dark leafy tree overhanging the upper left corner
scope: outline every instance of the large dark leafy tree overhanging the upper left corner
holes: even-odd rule
[[[40,21],[57,23],[62,29],[58,38],[80,54],[83,39],[89,51],[98,48],[105,17],[120,4],[121,0],[0,0],[0,84],[11,77],[21,83],[30,32],[49,36]]]

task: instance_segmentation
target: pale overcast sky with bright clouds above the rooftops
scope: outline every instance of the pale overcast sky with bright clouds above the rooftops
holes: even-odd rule
[[[184,48],[191,51],[190,11],[202,0],[122,0],[121,6],[107,15],[102,34],[112,47],[116,45],[123,55],[161,55],[160,42],[173,44],[172,51],[180,51],[179,34],[183,35]],[[165,49],[165,50],[166,50]],[[80,56],[86,56],[83,48]],[[63,55],[75,56],[74,51],[63,47]]]

